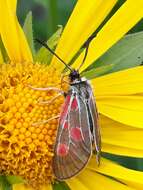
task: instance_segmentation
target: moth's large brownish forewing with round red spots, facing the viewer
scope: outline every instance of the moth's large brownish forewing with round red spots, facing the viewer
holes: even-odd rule
[[[79,173],[92,153],[88,111],[84,100],[71,95],[65,115],[65,120],[60,119],[59,122],[53,158],[53,171],[59,180]]]

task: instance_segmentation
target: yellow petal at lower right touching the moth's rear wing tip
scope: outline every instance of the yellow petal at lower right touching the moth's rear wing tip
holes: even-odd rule
[[[88,166],[91,170],[114,177],[123,183],[132,184],[133,187],[143,187],[143,172],[125,168],[103,158],[100,167],[95,168],[95,166],[96,160],[92,159]]]

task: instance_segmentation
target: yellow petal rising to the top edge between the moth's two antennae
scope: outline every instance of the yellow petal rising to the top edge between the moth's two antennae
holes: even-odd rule
[[[76,54],[87,38],[98,28],[117,0],[78,1],[59,41],[56,53],[67,63]],[[103,44],[102,44],[103,45]],[[57,58],[52,65],[61,66]]]

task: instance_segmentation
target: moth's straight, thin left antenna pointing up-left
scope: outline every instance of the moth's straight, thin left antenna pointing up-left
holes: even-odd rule
[[[41,44],[42,46],[44,46],[46,49],[48,49],[48,51],[53,54],[57,59],[59,59],[70,71],[73,71],[73,69],[67,64],[65,63],[45,42],[39,40],[39,39],[35,39],[39,44]]]

